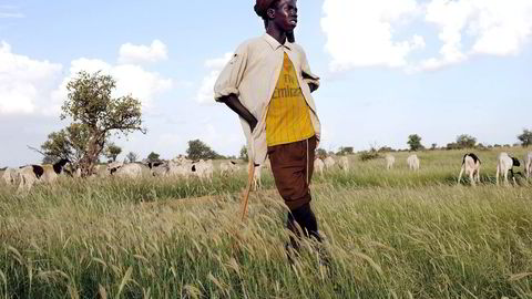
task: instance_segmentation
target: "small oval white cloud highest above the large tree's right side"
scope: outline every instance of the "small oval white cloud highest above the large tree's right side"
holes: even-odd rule
[[[125,43],[120,47],[120,63],[157,62],[168,58],[166,44],[154,40],[151,45]]]

